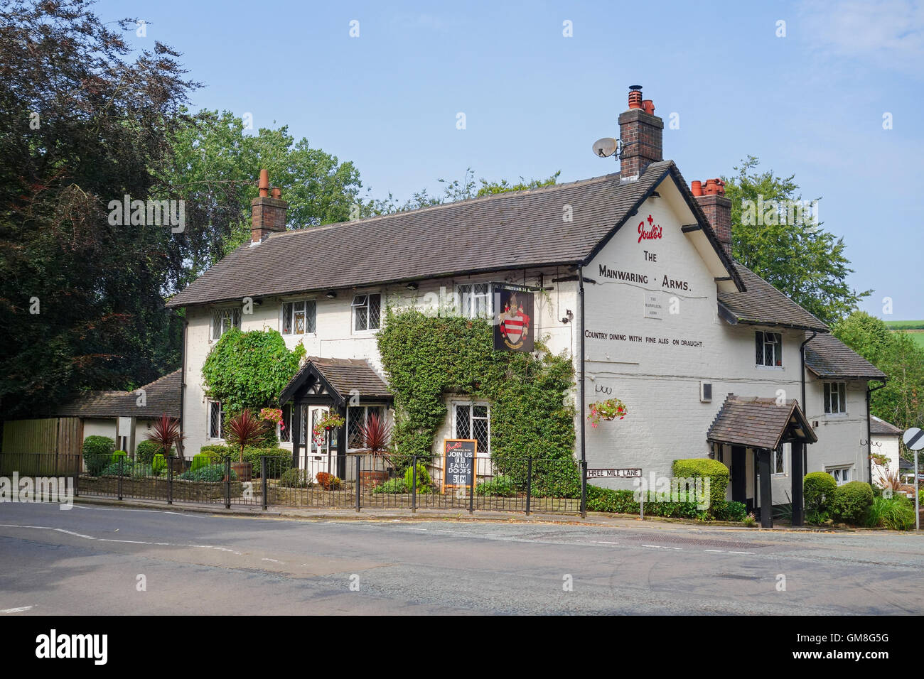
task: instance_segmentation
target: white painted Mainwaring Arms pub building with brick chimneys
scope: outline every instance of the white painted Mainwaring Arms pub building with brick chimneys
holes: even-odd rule
[[[282,444],[297,429],[296,454],[320,453],[306,425],[333,407],[347,421],[331,453],[345,461],[370,412],[394,417],[376,348],[384,310],[491,316],[492,284],[513,284],[537,291],[535,336],[574,360],[574,455],[588,467],[669,477],[675,459],[711,456],[731,470],[728,499],[749,507],[800,500],[808,471],[869,480],[869,389],[885,376],[732,259],[721,181],[691,187],[663,160],[663,123],[640,91],[619,126],[619,173],[344,224],[286,230],[286,201],[261,174],[252,241],[169,302],[188,321],[186,454],[223,440],[201,367],[228,328],[304,344]],[[582,427],[587,406],[611,396],[628,417]],[[490,455],[491,404],[445,400],[434,455],[444,438],[475,438]]]

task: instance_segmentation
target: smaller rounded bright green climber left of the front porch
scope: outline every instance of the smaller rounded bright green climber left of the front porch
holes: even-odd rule
[[[232,328],[213,346],[202,365],[206,394],[222,402],[225,413],[278,406],[279,394],[305,356],[299,344],[289,350],[275,330],[242,333]]]

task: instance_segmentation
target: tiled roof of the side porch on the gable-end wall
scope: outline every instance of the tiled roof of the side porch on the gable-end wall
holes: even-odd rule
[[[712,421],[707,439],[715,443],[776,450],[790,424],[802,430],[808,443],[818,441],[796,401],[777,405],[775,398],[729,394]]]

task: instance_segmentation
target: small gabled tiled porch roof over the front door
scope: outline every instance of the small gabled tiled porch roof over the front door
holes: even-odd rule
[[[288,403],[302,390],[330,395],[337,406],[346,405],[352,394],[359,394],[362,403],[392,400],[388,385],[365,358],[308,357],[279,395],[279,403]]]

